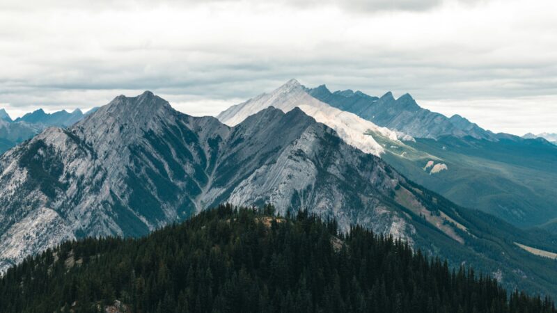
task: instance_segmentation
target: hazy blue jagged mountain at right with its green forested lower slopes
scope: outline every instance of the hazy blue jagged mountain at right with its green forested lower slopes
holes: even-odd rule
[[[409,95],[394,99],[387,93],[377,98],[351,90],[331,93],[325,86],[308,93],[377,125],[415,136],[415,141],[398,145],[376,134],[385,150],[382,159],[457,204],[521,227],[557,218],[556,147],[492,134],[460,115],[446,118],[422,109]]]

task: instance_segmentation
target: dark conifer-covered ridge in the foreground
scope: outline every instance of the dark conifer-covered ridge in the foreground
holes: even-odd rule
[[[362,227],[203,211],[142,239],[63,243],[10,268],[0,312],[556,312]]]

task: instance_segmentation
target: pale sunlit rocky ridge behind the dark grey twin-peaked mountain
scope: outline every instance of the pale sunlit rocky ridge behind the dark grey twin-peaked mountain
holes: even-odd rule
[[[234,126],[245,120],[249,115],[258,113],[269,106],[274,106],[283,112],[288,112],[298,107],[307,115],[315,118],[317,122],[321,122],[334,129],[338,136],[343,138],[349,145],[377,156],[384,152],[384,148],[375,141],[371,133],[380,134],[388,138],[389,141],[398,143],[400,143],[398,137],[404,140],[412,140],[410,136],[397,134],[395,131],[384,127],[378,127],[353,113],[341,111],[329,104],[320,102],[315,97],[309,95],[306,88],[301,86],[295,79],[273,90],[272,93],[264,93],[242,104],[231,106],[226,111],[220,113],[217,118],[226,125]]]

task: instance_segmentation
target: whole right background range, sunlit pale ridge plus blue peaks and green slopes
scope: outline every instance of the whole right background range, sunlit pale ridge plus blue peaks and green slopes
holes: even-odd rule
[[[301,108],[347,143],[457,204],[520,227],[554,230],[547,223],[557,218],[557,147],[546,141],[494,134],[459,115],[447,118],[422,109],[408,94],[395,99],[391,93],[331,93],[326,86],[306,88],[295,80],[217,118],[235,125],[269,105]]]

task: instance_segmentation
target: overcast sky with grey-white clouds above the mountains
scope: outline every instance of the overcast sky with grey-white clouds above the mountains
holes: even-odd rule
[[[215,115],[296,78],[410,93],[492,131],[557,132],[555,0],[33,2],[0,1],[13,116],[143,90]]]

